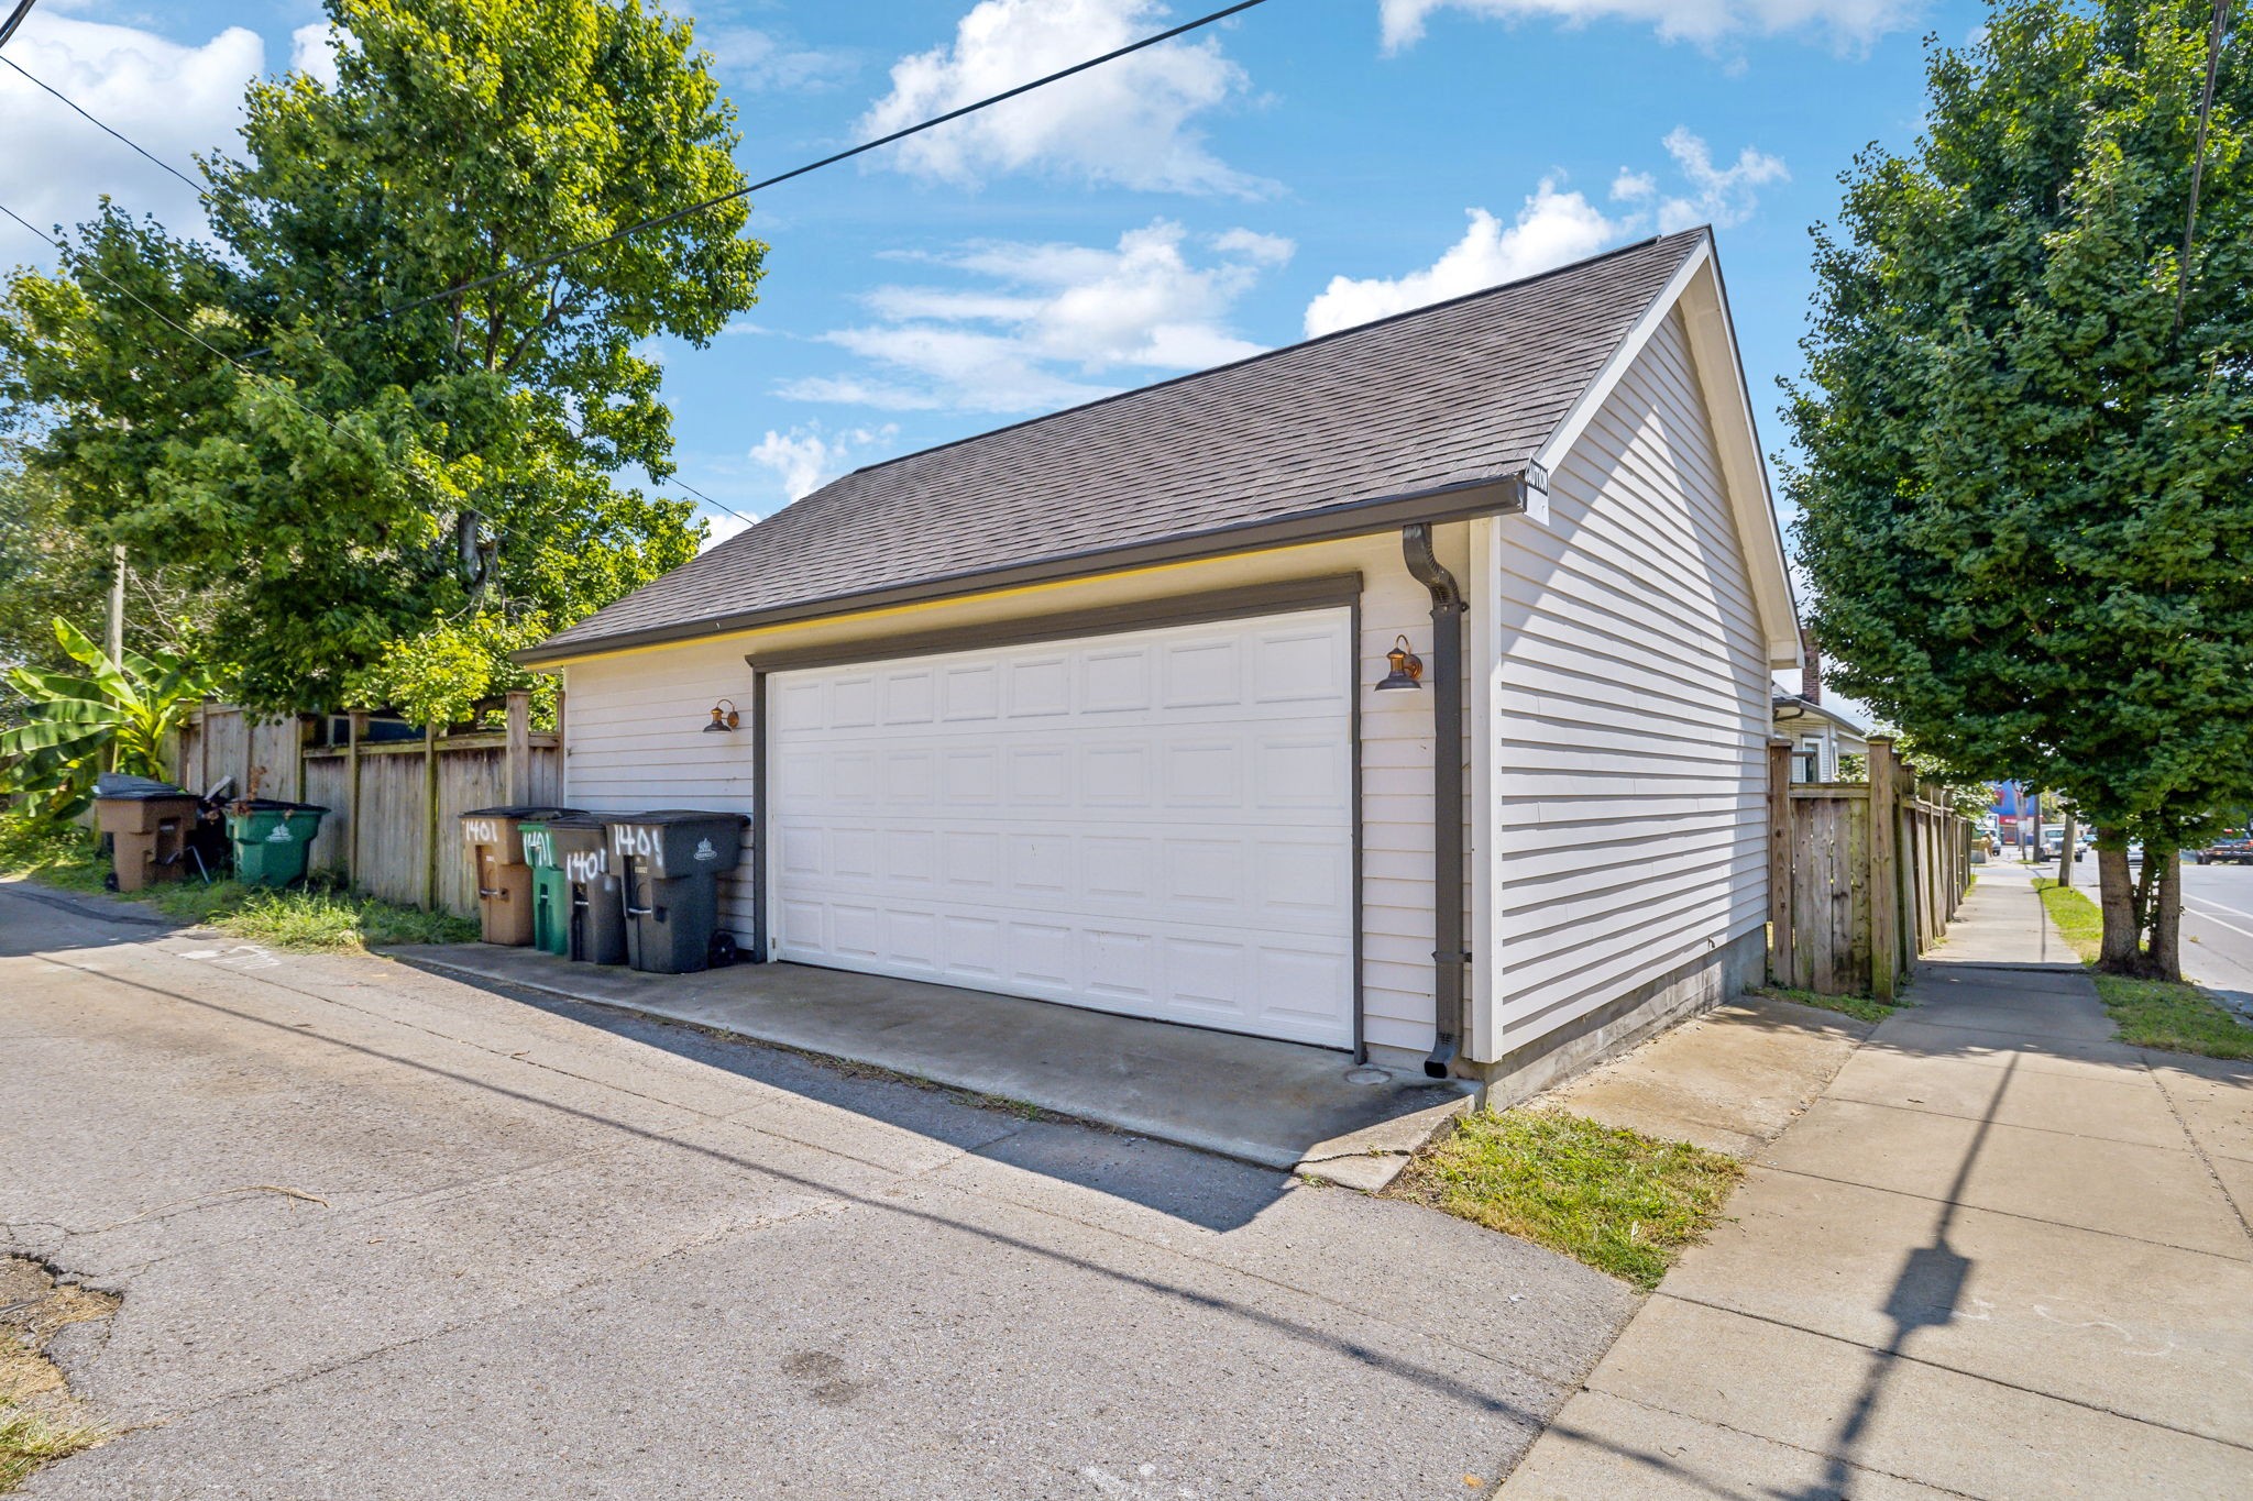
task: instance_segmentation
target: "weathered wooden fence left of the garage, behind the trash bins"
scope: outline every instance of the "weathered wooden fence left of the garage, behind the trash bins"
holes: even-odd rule
[[[180,731],[180,785],[203,790],[232,774],[250,792],[320,803],[329,817],[309,851],[311,869],[354,891],[475,916],[478,889],[455,821],[473,808],[552,803],[563,794],[563,738],[534,731],[525,693],[509,693],[500,734],[437,734],[367,740],[367,716],[349,716],[342,745],[318,745],[313,720],[252,720],[205,704]]]

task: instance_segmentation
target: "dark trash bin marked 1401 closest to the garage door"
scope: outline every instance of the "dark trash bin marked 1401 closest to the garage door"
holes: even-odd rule
[[[649,974],[734,963],[734,936],[719,929],[719,878],[734,871],[750,819],[656,808],[606,812],[602,824],[626,902],[626,963]]]

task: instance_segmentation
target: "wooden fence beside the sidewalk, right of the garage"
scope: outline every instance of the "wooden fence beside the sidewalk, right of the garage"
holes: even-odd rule
[[[1971,821],[1917,783],[1886,736],[1870,781],[1791,781],[1769,747],[1769,977],[1818,995],[1893,999],[1971,878]]]

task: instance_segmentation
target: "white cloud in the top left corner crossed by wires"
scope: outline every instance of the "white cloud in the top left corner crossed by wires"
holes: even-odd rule
[[[9,59],[81,104],[155,158],[196,176],[198,151],[232,149],[243,88],[266,68],[257,32],[228,27],[201,47],[153,32],[74,20],[36,9],[9,41]],[[79,223],[110,194],[133,214],[155,214],[180,234],[205,234],[196,194],[104,135],[14,68],[0,68],[0,203],[45,230]],[[29,241],[7,225],[11,252]]]

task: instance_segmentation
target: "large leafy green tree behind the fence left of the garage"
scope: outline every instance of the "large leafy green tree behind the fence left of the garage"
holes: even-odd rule
[[[692,506],[615,479],[671,473],[644,342],[710,340],[764,257],[737,200],[543,263],[741,187],[685,23],[638,0],[329,18],[336,86],[255,83],[243,155],[205,164],[223,250],[104,212],[0,317],[68,522],[192,572],[214,662],[275,711],[340,707],[421,637],[437,662],[568,623],[692,556]]]

